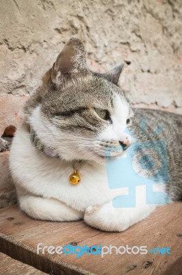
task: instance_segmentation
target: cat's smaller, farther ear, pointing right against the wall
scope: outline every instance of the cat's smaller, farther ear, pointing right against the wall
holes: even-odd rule
[[[104,74],[97,74],[97,76],[101,76],[107,80],[109,80],[110,82],[114,83],[114,84],[118,84],[119,78],[120,78],[120,74],[122,74],[123,70],[125,67],[125,63],[122,63],[120,65],[118,65],[117,67],[114,67],[113,69],[109,70],[108,72],[104,73]]]

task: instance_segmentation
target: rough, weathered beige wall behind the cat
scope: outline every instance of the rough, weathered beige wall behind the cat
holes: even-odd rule
[[[124,86],[134,106],[182,113],[181,0],[0,4],[0,135],[21,122],[23,103],[70,36],[85,41],[92,69],[128,64]]]

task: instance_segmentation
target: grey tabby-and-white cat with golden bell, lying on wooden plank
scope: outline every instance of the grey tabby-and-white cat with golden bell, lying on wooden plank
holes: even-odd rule
[[[106,166],[127,155],[137,142],[141,147],[164,140],[168,168],[165,163],[161,168],[159,145],[158,156],[149,151],[155,169],[169,172],[170,181],[155,184],[155,190],[167,192],[170,201],[182,199],[181,115],[132,109],[118,86],[123,67],[105,74],[91,72],[83,43],[73,37],[57,56],[46,85],[27,100],[23,124],[12,142],[10,170],[19,206],[30,217],[83,219],[109,232],[122,232],[148,217],[157,203],[146,203],[144,188],[136,186],[135,207],[114,207],[115,197],[128,194],[127,185],[108,185]],[[155,133],[158,126],[163,130]],[[151,172],[137,164],[145,150],[142,146],[133,165],[142,177],[150,177]],[[77,184],[71,184],[70,175]],[[119,179],[126,181],[122,174]]]

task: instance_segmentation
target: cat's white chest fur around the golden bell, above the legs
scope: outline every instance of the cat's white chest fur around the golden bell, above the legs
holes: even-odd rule
[[[77,185],[70,184],[73,166],[38,151],[25,128],[14,138],[10,162],[17,186],[37,196],[59,199],[77,210],[101,205],[118,194],[108,186],[105,165],[81,165],[78,168],[81,181]],[[20,179],[18,175],[22,170],[25,178]]]

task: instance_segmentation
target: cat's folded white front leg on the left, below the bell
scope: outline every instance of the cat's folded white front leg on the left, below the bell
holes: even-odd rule
[[[47,221],[77,221],[83,219],[83,212],[67,206],[57,199],[46,199],[33,195],[18,196],[21,210],[34,219]]]

